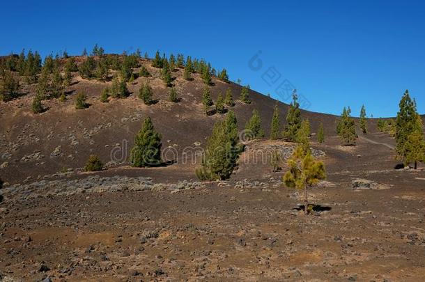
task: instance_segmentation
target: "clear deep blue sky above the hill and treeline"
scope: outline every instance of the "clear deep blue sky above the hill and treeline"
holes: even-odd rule
[[[394,116],[408,88],[425,113],[424,1],[236,2],[4,1],[0,54],[182,52],[281,100],[287,79],[311,111]]]

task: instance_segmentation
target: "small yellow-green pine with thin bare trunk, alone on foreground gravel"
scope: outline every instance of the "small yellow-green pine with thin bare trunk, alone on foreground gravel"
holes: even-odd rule
[[[308,187],[326,178],[325,164],[316,161],[311,152],[304,151],[304,146],[299,144],[293,155],[288,159],[289,170],[284,175],[286,187],[304,189],[304,214],[309,212]]]

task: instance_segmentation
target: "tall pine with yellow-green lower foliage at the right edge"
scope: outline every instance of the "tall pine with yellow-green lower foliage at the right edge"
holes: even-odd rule
[[[424,161],[424,132],[422,120],[416,110],[416,102],[409,91],[405,91],[399,104],[396,118],[396,154],[397,159],[408,165]]]

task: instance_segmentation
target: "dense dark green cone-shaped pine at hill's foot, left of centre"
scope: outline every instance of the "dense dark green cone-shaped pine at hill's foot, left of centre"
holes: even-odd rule
[[[134,137],[134,147],[130,153],[130,163],[135,167],[158,166],[161,160],[161,134],[155,131],[150,117]]]

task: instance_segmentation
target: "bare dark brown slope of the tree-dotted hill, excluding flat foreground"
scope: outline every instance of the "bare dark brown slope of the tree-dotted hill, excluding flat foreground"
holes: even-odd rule
[[[77,63],[84,61],[83,57],[75,57]],[[47,107],[44,113],[36,114],[31,111],[31,104],[36,95],[36,85],[24,86],[22,97],[10,102],[0,102],[1,132],[1,176],[8,182],[17,182],[31,177],[40,178],[44,175],[59,173],[63,169],[79,169],[84,166],[88,155],[100,156],[104,163],[111,161],[111,152],[116,152],[116,146],[125,146],[121,155],[127,155],[133,144],[134,135],[139,131],[141,122],[146,116],[153,119],[158,132],[162,134],[163,148],[172,146],[181,157],[182,150],[194,143],[204,145],[212,125],[224,115],[216,113],[206,116],[202,106],[202,93],[205,84],[199,74],[193,74],[192,81],[183,79],[183,69],[172,72],[173,85],[178,91],[180,102],[167,101],[169,88],[164,85],[160,68],[154,68],[150,60],[139,59],[139,68],[145,66],[151,77],[138,77],[127,84],[130,97],[125,99],[110,99],[108,103],[99,101],[102,90],[111,86],[111,81],[101,82],[96,79],[82,79],[78,72],[72,72],[72,85],[65,88],[67,100],[45,100]],[[110,80],[110,79],[109,79]],[[157,104],[146,106],[137,93],[142,84],[149,81],[153,88],[153,97]],[[233,82],[226,83],[212,78],[210,86],[212,100],[217,99],[218,93],[226,93],[227,88],[233,92],[235,111],[240,130],[257,109],[263,121],[263,129],[269,134],[270,123],[276,101],[249,91],[251,104],[238,101],[242,86]],[[75,95],[86,93],[91,104],[88,109],[75,109]],[[287,105],[279,102],[281,125],[283,127]],[[312,132],[323,122],[325,134],[334,135],[335,116],[302,112],[303,118],[311,122]],[[60,147],[59,147],[60,146]],[[55,151],[56,150],[56,151]],[[118,158],[121,159],[121,158]],[[171,159],[169,159],[171,160]],[[178,162],[178,159],[174,159]],[[124,162],[123,166],[128,164]],[[115,165],[117,166],[117,165]],[[146,172],[146,176],[148,173]],[[145,175],[145,172],[142,173]],[[187,174],[185,177],[194,177]]]

